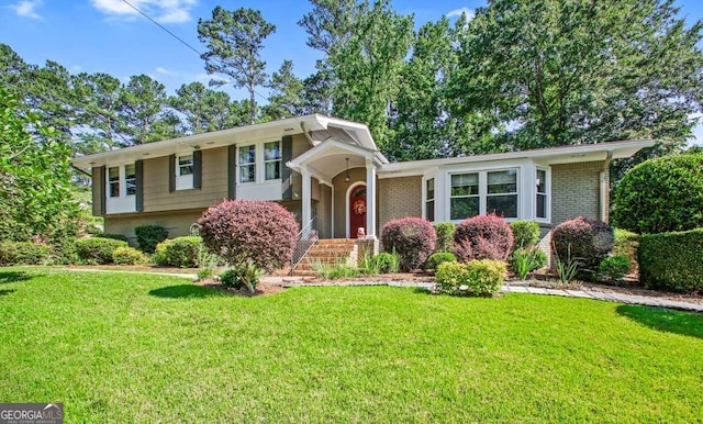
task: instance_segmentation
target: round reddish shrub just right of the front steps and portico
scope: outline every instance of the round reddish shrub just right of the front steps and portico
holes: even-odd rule
[[[400,256],[403,270],[422,268],[435,250],[437,234],[429,221],[422,217],[403,217],[389,221],[381,230],[381,242],[386,252]]]

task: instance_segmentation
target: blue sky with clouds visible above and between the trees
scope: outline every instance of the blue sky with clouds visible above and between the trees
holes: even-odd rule
[[[188,44],[203,51],[198,41],[198,20],[211,19],[220,4],[225,9],[252,8],[277,26],[266,40],[264,58],[269,74],[283,59],[294,62],[295,74],[305,77],[314,70],[320,54],[305,45],[306,34],[297,22],[311,10],[303,0],[291,1],[207,1],[129,0]],[[395,0],[393,8],[413,13],[416,25],[436,21],[443,14],[471,13],[483,0]],[[703,1],[679,0],[689,23],[703,19]],[[30,64],[56,60],[71,72],[108,72],[123,80],[146,74],[172,93],[185,82],[211,79],[200,57],[154,23],[136,13],[123,0],[0,0],[0,42],[10,45]],[[264,89],[258,90],[266,93]],[[244,92],[231,92],[243,99]],[[260,100],[260,99],[259,99]],[[693,141],[692,141],[693,142]],[[696,130],[696,144],[703,144],[703,125]]]

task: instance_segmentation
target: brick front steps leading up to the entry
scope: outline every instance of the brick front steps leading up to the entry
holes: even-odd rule
[[[293,276],[315,277],[321,265],[346,264],[356,266],[359,260],[359,242],[349,238],[319,239],[293,268]]]

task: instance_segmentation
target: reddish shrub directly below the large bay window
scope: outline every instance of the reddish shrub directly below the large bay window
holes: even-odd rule
[[[494,213],[467,217],[454,232],[454,254],[462,263],[506,260],[512,248],[513,231],[504,219]]]

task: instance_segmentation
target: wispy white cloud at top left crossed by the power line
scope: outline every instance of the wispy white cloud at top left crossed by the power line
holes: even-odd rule
[[[122,0],[90,0],[109,18],[132,20],[140,14]],[[159,23],[190,22],[190,9],[198,0],[131,0],[130,3]]]

